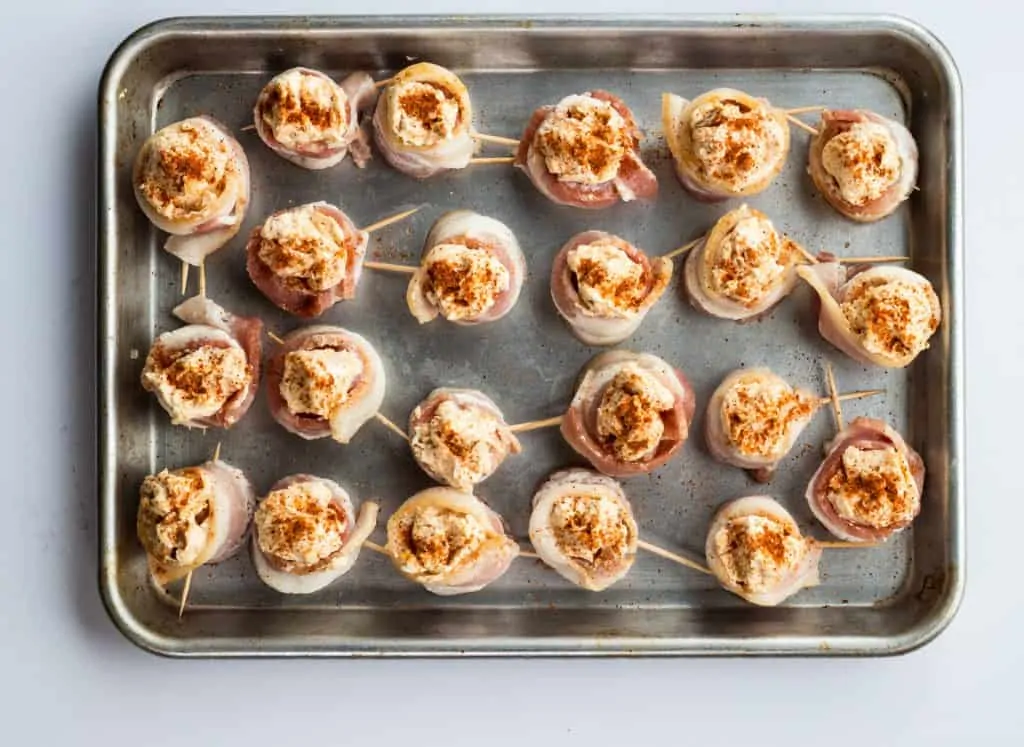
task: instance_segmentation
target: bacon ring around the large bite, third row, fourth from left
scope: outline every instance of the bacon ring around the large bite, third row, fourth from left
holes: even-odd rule
[[[672,410],[662,413],[665,432],[654,454],[638,462],[620,461],[598,441],[597,411],[608,384],[626,363],[634,362],[654,374],[675,397]],[[679,369],[646,352],[608,350],[595,356],[585,367],[562,418],[562,437],[578,454],[595,469],[611,478],[644,474],[666,464],[678,452],[689,435],[690,421],[696,409],[693,387]]]

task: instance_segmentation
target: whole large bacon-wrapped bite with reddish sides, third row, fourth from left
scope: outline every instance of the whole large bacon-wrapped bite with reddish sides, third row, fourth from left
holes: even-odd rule
[[[648,352],[609,350],[584,369],[561,432],[599,472],[633,476],[682,448],[695,407],[682,371]]]

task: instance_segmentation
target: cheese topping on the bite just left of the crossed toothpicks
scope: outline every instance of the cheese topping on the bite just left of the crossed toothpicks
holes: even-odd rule
[[[750,374],[737,379],[722,398],[722,422],[736,451],[771,459],[790,450],[791,433],[815,406],[777,376]]]

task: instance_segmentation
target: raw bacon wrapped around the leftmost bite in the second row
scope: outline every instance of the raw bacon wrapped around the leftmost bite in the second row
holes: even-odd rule
[[[253,284],[275,306],[305,319],[318,317],[335,303],[355,297],[359,279],[362,277],[362,262],[367,256],[367,244],[370,242],[370,235],[355,227],[351,219],[339,208],[328,203],[316,203],[316,205],[319,212],[334,218],[341,225],[348,239],[354,240],[354,245],[349,244],[348,246],[345,277],[335,287],[315,291],[304,287],[299,279],[286,279],[278,276],[259,256],[263,241],[260,237],[262,226],[253,229],[249,243],[246,245],[246,269]],[[286,211],[278,211],[274,215],[282,212]]]

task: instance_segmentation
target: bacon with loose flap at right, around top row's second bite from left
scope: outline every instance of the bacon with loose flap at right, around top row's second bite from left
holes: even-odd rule
[[[331,147],[322,142],[311,142],[306,146],[290,148],[279,142],[273,136],[273,131],[263,119],[269,106],[271,86],[282,76],[296,72],[323,78],[344,92],[348,102],[348,127],[345,132],[344,144]],[[281,73],[263,87],[256,99],[256,106],[253,108],[253,121],[256,125],[256,133],[266,147],[296,166],[312,170],[331,168],[341,163],[351,151],[352,162],[357,167],[362,168],[370,160],[371,153],[369,138],[359,123],[359,113],[372,107],[376,98],[377,88],[374,86],[374,79],[367,73],[352,73],[339,84],[317,70],[293,68]]]

